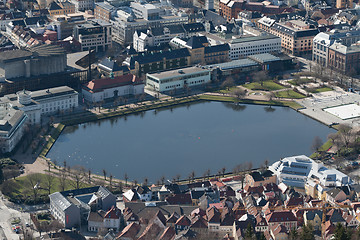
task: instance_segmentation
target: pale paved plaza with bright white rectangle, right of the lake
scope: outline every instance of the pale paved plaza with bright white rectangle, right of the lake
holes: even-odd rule
[[[304,106],[299,112],[326,125],[339,123],[360,126],[360,95],[357,93],[337,88],[335,91],[313,94],[312,97],[297,102]]]

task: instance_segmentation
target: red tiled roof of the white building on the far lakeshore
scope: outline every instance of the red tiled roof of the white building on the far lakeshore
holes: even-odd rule
[[[103,89],[120,87],[126,85],[138,85],[142,84],[142,80],[136,77],[133,74],[126,74],[122,76],[117,76],[114,78],[101,78],[92,80],[89,83],[84,85],[84,89],[90,92],[99,92]]]

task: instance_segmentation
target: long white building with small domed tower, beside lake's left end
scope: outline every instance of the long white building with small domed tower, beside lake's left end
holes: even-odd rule
[[[63,86],[40,91],[19,91],[1,98],[2,103],[26,113],[30,124],[40,124],[41,116],[71,111],[78,107],[78,92]]]

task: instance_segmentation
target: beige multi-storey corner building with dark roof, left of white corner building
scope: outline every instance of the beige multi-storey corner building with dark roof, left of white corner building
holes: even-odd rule
[[[300,20],[276,23],[263,17],[257,25],[260,29],[280,37],[282,50],[292,55],[311,54],[313,38],[319,33],[313,25]]]

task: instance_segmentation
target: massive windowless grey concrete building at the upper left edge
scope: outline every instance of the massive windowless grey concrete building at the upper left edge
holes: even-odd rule
[[[66,66],[64,49],[54,45],[5,51],[0,54],[0,81],[60,73]]]

